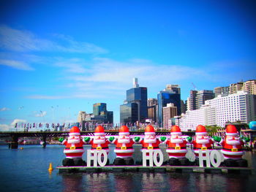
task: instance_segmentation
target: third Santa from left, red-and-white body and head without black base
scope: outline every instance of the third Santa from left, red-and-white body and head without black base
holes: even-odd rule
[[[113,144],[116,145],[114,152],[116,158],[129,158],[132,157],[134,149],[132,145],[135,142],[129,137],[129,128],[127,126],[121,126],[119,129],[118,139],[113,140]]]

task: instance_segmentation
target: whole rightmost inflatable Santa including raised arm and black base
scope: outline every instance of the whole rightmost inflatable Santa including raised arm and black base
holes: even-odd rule
[[[248,166],[247,161],[242,158],[245,142],[249,142],[249,138],[243,137],[241,139],[236,126],[228,125],[226,127],[225,139],[219,142],[222,145],[221,151],[224,155],[225,166]]]

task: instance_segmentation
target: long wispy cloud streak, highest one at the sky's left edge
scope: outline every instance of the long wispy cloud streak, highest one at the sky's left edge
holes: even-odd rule
[[[76,42],[71,37],[56,35],[58,39],[41,39],[30,31],[0,26],[0,48],[18,52],[54,51],[67,53],[108,53],[88,42]]]

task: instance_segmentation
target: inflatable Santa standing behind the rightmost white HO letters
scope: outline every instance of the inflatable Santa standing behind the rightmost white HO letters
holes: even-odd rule
[[[205,156],[206,150],[212,150],[212,144],[214,144],[214,141],[211,137],[208,137],[206,127],[202,125],[197,126],[195,130],[195,139],[192,142],[195,153],[195,164],[199,165],[199,150],[202,150],[203,156]]]

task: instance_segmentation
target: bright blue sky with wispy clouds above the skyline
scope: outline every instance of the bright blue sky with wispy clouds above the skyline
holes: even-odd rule
[[[213,90],[256,77],[255,1],[0,1],[0,130],[119,107],[132,78]]]

